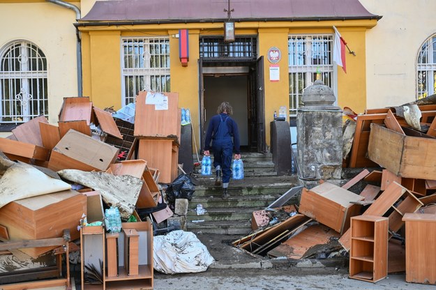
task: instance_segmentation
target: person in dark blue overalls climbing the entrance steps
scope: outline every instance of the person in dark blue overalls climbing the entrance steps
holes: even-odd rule
[[[233,149],[234,158],[241,158],[239,130],[236,122],[230,117],[233,114],[233,108],[229,102],[222,102],[216,112],[217,114],[210,119],[207,128],[204,155],[209,156],[212,140],[213,167],[216,171],[215,185],[220,185],[222,176],[223,199],[227,199],[229,197],[230,176],[232,175]]]

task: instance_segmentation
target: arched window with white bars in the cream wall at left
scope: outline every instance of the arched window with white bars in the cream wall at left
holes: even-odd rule
[[[1,50],[0,101],[1,123],[48,116],[47,59],[33,43],[17,40]]]

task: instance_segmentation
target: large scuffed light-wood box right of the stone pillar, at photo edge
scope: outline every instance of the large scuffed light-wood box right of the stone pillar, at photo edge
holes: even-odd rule
[[[436,179],[436,138],[412,137],[371,124],[368,158],[406,178]]]

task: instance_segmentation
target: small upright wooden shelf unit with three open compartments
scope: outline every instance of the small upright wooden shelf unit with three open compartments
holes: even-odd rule
[[[351,218],[350,278],[377,282],[386,277],[388,220],[374,215]]]

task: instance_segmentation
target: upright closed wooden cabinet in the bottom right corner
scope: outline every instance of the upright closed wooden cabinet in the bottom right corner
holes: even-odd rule
[[[436,284],[436,215],[406,213],[406,282]]]

